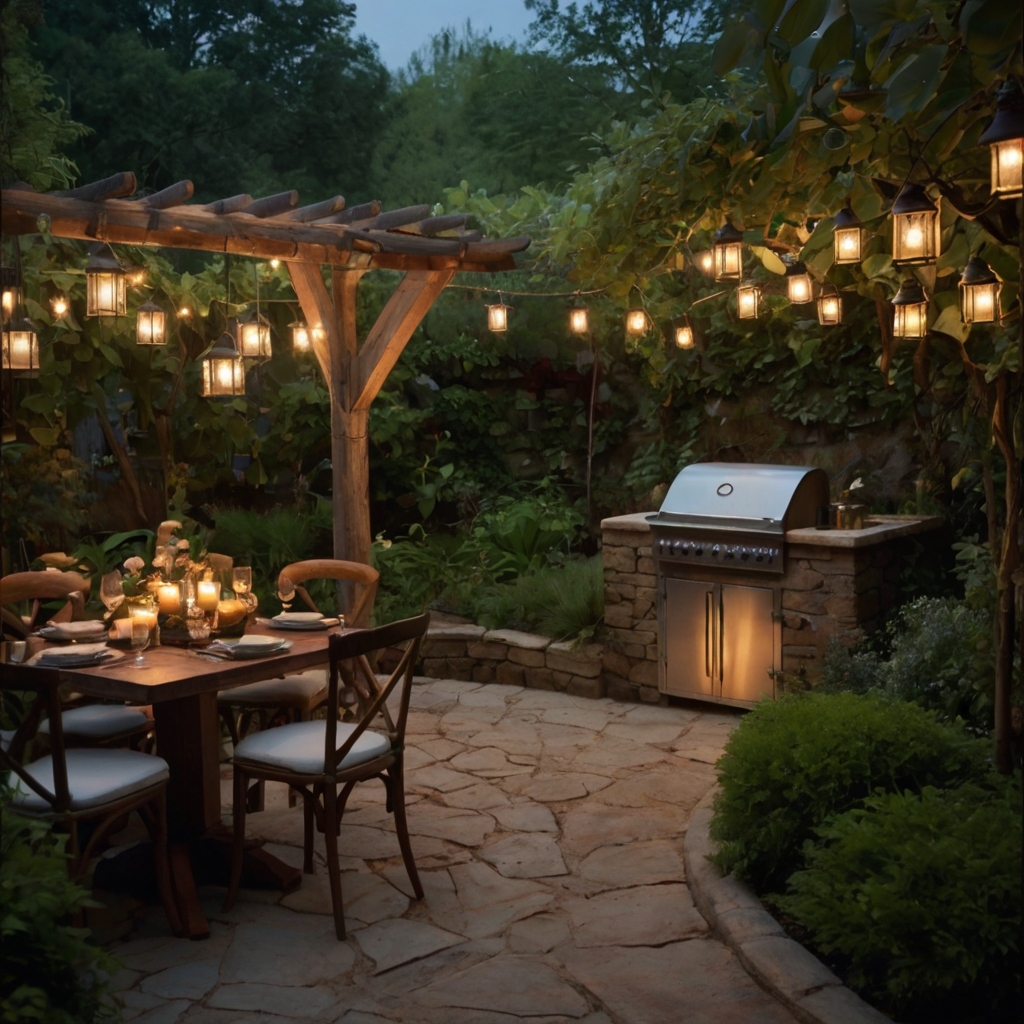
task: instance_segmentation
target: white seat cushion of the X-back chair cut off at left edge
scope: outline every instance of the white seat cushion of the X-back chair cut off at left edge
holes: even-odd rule
[[[68,787],[71,809],[85,810],[97,804],[112,803],[151,785],[166,781],[167,762],[137,751],[71,750],[68,759]],[[49,756],[25,766],[44,790],[53,793],[53,759]],[[11,775],[11,781],[16,776]],[[50,805],[17,779],[11,802],[26,811],[48,811]]]

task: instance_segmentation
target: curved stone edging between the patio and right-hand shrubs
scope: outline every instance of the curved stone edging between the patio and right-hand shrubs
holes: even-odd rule
[[[761,905],[754,892],[708,859],[715,786],[690,815],[683,838],[686,881],[697,909],[748,973],[805,1024],[892,1024],[850,991]]]

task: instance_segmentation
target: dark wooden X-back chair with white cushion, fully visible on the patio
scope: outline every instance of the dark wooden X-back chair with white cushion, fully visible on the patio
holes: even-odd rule
[[[246,804],[250,780],[287,782],[303,801],[303,864],[313,871],[313,828],[323,831],[335,933],[345,938],[338,836],[345,804],[356,782],[379,778],[386,792],[386,808],[394,815],[398,847],[417,899],[423,886],[416,870],[406,820],[406,720],[413,671],[430,622],[429,612],[376,629],[340,633],[329,641],[330,675],[326,719],[294,722],[247,736],[234,749],[233,837],[231,872],[224,899],[229,910],[239,894],[246,841]],[[369,655],[406,643],[408,646],[386,682],[381,684]],[[339,681],[358,695],[358,717],[338,721]],[[398,687],[394,715],[388,698]],[[371,726],[375,728],[371,728]],[[339,786],[341,791],[339,793]]]

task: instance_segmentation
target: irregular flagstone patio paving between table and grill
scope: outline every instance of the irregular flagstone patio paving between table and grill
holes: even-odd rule
[[[383,786],[356,787],[340,846],[348,940],[317,872],[289,896],[202,891],[212,935],[159,909],[113,951],[136,1024],[792,1024],[693,906],[682,836],[737,718],[418,680],[411,900]],[[223,781],[230,800],[230,770]],[[283,786],[249,835],[301,864]],[[229,808],[225,808],[229,811]]]

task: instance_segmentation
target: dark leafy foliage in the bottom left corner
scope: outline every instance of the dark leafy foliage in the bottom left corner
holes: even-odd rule
[[[88,894],[68,878],[63,841],[3,807],[0,1009],[16,1024],[95,1024],[120,1014],[105,979],[114,958],[67,924]]]

